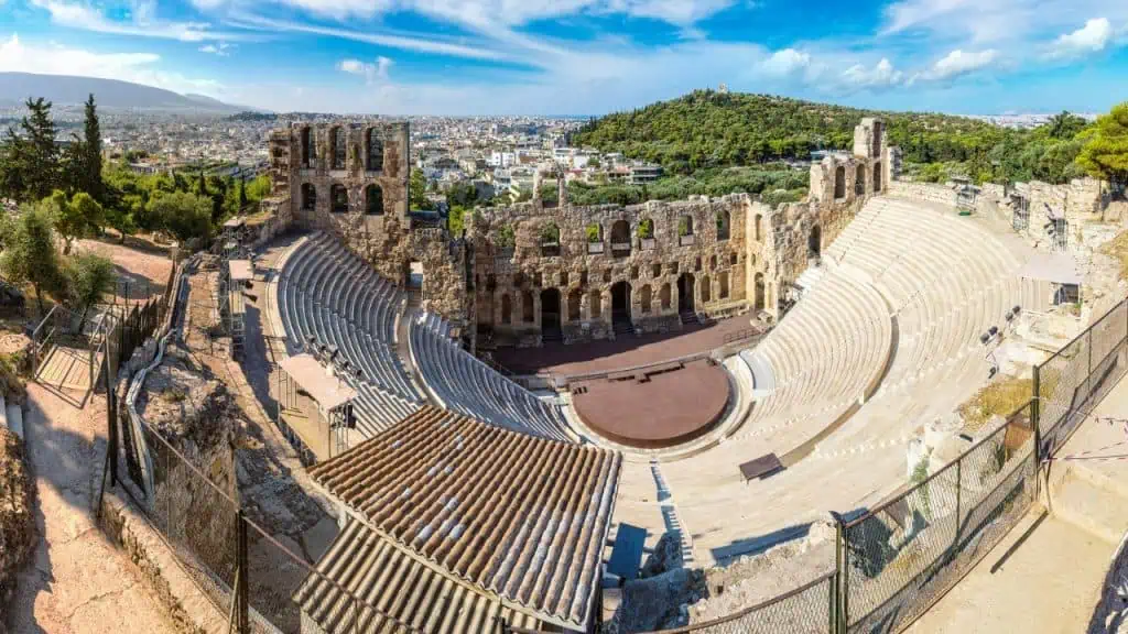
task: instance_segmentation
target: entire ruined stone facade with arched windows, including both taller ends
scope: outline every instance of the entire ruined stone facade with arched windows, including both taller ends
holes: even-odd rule
[[[382,164],[373,139],[380,142]],[[407,209],[405,123],[294,125],[271,138],[275,192],[294,222],[335,232],[400,285],[423,271],[423,308],[469,335],[538,345],[681,328],[684,317],[779,316],[784,291],[896,174],[881,120],[863,120],[854,155],[811,167],[808,202],[772,209],[746,194],[576,206],[562,174],[538,170],[531,202],[479,209],[465,236]],[[546,184],[558,202],[540,202]],[[381,205],[371,203],[372,187]]]

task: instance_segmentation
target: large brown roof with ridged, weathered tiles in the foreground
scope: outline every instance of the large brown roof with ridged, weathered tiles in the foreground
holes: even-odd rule
[[[620,461],[425,407],[309,473],[441,571],[537,618],[582,627]]]

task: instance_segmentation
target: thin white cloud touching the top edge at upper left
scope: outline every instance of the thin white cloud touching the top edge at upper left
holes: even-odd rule
[[[112,35],[133,35],[139,37],[160,37],[179,39],[182,42],[204,42],[209,39],[239,39],[235,33],[219,33],[211,29],[206,23],[164,21],[155,17],[156,3],[134,2],[132,21],[118,21],[107,18],[88,5],[67,0],[30,0],[30,3],[51,14],[51,21],[69,28],[107,33]]]

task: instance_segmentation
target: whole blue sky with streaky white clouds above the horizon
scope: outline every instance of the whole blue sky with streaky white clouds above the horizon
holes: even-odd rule
[[[1128,0],[0,0],[0,71],[277,112],[602,114],[721,82],[1103,112],[1128,99]]]

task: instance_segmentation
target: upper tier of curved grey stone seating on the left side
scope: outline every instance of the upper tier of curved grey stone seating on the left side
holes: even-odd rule
[[[394,347],[403,294],[340,241],[319,235],[287,258],[277,284],[279,311],[292,350],[312,335],[336,346],[361,377],[354,410],[362,438],[374,435],[418,408],[415,390]]]

